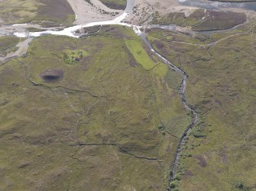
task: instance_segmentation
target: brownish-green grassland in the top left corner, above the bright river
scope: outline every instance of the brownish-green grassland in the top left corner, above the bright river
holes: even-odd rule
[[[3,24],[34,22],[53,27],[72,25],[74,18],[73,10],[66,0],[0,1],[0,19]]]

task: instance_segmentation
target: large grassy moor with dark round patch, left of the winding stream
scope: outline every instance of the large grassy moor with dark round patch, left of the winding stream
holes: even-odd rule
[[[166,189],[190,116],[130,28],[38,37],[0,81],[1,190]]]

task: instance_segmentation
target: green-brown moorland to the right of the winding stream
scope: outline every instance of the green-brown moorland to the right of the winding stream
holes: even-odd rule
[[[171,184],[176,190],[256,189],[253,25],[194,38],[147,33],[157,51],[188,74],[186,97],[199,113]]]

